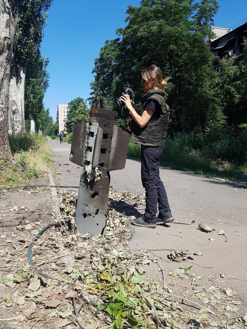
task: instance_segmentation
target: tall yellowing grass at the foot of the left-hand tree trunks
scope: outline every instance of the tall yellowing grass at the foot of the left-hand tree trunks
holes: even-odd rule
[[[23,134],[9,136],[15,164],[0,163],[0,185],[23,184],[41,177],[51,167],[51,149],[46,139],[39,135]]]

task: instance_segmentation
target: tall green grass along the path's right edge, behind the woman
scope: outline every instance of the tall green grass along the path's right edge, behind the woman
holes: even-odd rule
[[[177,139],[165,139],[160,164],[208,177],[233,179],[239,174],[247,174],[246,142],[241,137],[232,136],[224,140],[209,139],[202,134],[181,134]],[[140,158],[141,145],[129,142],[128,157]]]

